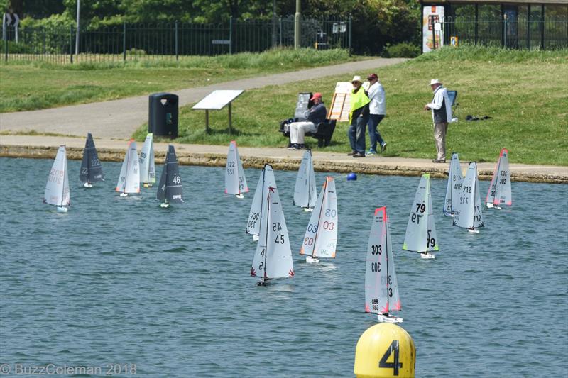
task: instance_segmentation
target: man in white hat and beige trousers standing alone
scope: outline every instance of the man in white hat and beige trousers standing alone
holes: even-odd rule
[[[446,132],[448,122],[452,121],[452,104],[449,101],[448,91],[442,87],[438,79],[430,80],[430,87],[434,92],[434,99],[424,106],[424,110],[432,110],[434,122],[434,140],[437,158],[432,162],[446,162]]]

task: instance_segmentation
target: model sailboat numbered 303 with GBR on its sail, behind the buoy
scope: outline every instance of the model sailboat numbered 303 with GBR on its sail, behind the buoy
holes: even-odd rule
[[[386,206],[376,209],[367,245],[365,312],[376,313],[380,322],[402,323],[403,318],[391,314],[401,306],[388,222]]]

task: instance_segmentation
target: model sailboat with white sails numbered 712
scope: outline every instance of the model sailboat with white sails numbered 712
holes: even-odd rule
[[[454,226],[467,228],[470,233],[479,233],[477,228],[484,226],[476,162],[469,163],[466,177],[461,184],[461,193],[455,209],[453,224]]]

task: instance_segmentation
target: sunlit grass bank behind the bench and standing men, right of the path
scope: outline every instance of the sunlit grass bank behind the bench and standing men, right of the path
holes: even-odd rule
[[[444,48],[402,65],[376,72],[386,90],[387,116],[379,130],[388,143],[387,156],[434,158],[430,111],[430,79],[439,78],[458,91],[458,123],[449,126],[447,151],[462,161],[496,161],[502,147],[510,161],[568,165],[568,51],[515,51],[491,48]],[[352,74],[368,74],[353,72]],[[301,78],[299,78],[301,79]],[[321,91],[329,105],[335,83],[351,75],[307,80],[285,87],[246,91],[233,106],[234,135],[227,133],[226,109],[210,112],[213,132],[204,133],[204,112],[180,109],[180,142],[281,146],[288,140],[278,121],[293,116],[297,93]],[[485,121],[466,122],[466,116]],[[136,138],[143,140],[147,126]],[[349,152],[346,123],[339,123],[332,145],[325,150]],[[317,149],[315,139],[307,138]],[[367,136],[368,141],[368,136]]]

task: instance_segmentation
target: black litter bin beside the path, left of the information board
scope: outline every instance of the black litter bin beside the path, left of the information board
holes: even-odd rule
[[[148,133],[178,138],[178,95],[154,93],[148,100]]]

